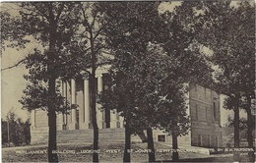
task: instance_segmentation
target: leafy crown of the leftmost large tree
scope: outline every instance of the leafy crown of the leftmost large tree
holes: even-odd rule
[[[20,7],[22,8],[20,23],[23,24],[23,31],[32,35],[43,45],[43,49],[34,49],[24,61],[26,68],[30,70],[25,79],[30,83],[24,90],[26,95],[20,102],[29,111],[47,110],[47,104],[50,102],[54,104],[56,111],[67,112],[68,109],[76,106],[66,105],[69,103],[61,96],[58,90],[59,85],[56,85],[56,92],[49,92],[48,81],[50,78],[65,81],[80,75],[78,68],[81,67],[79,64],[83,64],[84,56],[79,55],[81,52],[77,48],[78,41],[74,38],[76,29],[78,29],[75,24],[78,19],[76,17],[78,5],[77,3],[25,2],[21,3]],[[54,23],[52,23],[53,20]],[[52,26],[56,26],[56,33],[53,35],[54,52],[49,50]]]

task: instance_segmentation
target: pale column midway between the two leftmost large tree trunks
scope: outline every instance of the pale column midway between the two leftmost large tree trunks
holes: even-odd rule
[[[76,104],[76,81],[71,80],[71,104]],[[69,125],[70,130],[76,129],[76,109],[71,110],[71,124]]]

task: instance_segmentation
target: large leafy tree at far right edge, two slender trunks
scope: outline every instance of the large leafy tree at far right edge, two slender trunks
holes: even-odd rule
[[[249,108],[250,98],[254,94],[250,90],[255,89],[255,39],[252,36],[255,30],[254,4],[244,1],[235,8],[230,1],[206,2],[199,9],[203,12],[197,19],[200,22],[197,27],[198,41],[214,52],[210,58],[219,67],[215,76],[217,89],[230,100],[228,109],[234,111],[234,147],[239,147],[239,102],[243,96],[246,97],[246,108]],[[249,128],[252,129],[251,109],[246,110]],[[251,134],[248,136],[251,141]],[[237,154],[234,156],[238,160]]]

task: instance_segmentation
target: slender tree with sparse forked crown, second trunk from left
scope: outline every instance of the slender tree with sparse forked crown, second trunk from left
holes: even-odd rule
[[[84,2],[80,5],[79,49],[85,57],[80,66],[80,72],[89,79],[91,92],[91,116],[94,128],[94,151],[98,149],[98,127],[96,124],[96,69],[111,63],[111,57],[106,50],[106,36],[102,34],[104,28],[112,20],[104,20],[103,10],[99,9],[101,2]],[[109,58],[110,57],[110,58]],[[100,110],[98,110],[100,111]],[[98,153],[93,153],[93,162],[98,162]]]

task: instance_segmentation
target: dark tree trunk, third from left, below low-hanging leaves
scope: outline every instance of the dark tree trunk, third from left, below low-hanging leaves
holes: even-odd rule
[[[125,146],[124,146],[124,155],[123,162],[131,162],[131,130],[129,127],[129,122],[126,120],[125,122]]]

